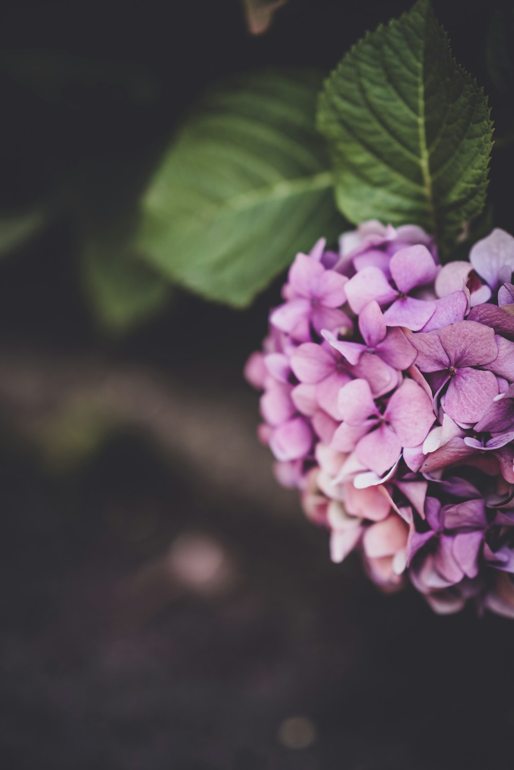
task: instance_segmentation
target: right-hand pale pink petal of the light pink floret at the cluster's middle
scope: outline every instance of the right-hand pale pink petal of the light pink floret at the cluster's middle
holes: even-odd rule
[[[384,414],[402,447],[422,444],[435,421],[432,401],[414,380],[404,380],[389,400]]]

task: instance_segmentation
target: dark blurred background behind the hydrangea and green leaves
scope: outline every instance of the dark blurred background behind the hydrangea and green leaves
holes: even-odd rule
[[[235,0],[4,4],[0,219],[45,203],[0,261],[5,770],[512,764],[512,621],[379,594],[274,482],[241,370],[281,280],[244,312],[173,288],[113,334],[82,272],[200,92],[328,72],[409,5],[290,0],[252,36]],[[512,229],[500,5],[434,5],[490,94],[492,217]]]

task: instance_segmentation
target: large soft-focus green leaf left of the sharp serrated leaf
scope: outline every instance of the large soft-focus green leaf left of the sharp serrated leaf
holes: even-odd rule
[[[143,199],[137,243],[163,274],[247,306],[299,250],[341,229],[314,128],[319,75],[262,73],[207,95]]]

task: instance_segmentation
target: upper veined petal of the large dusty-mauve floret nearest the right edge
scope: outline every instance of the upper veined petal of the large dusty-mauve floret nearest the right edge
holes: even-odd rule
[[[450,323],[438,331],[439,339],[455,367],[476,367],[498,356],[492,329],[475,321]]]

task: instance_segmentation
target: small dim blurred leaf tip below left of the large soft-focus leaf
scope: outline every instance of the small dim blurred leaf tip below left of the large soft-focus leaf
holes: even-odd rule
[[[169,298],[166,281],[128,249],[89,243],[83,275],[93,310],[102,326],[123,332],[162,309]]]

